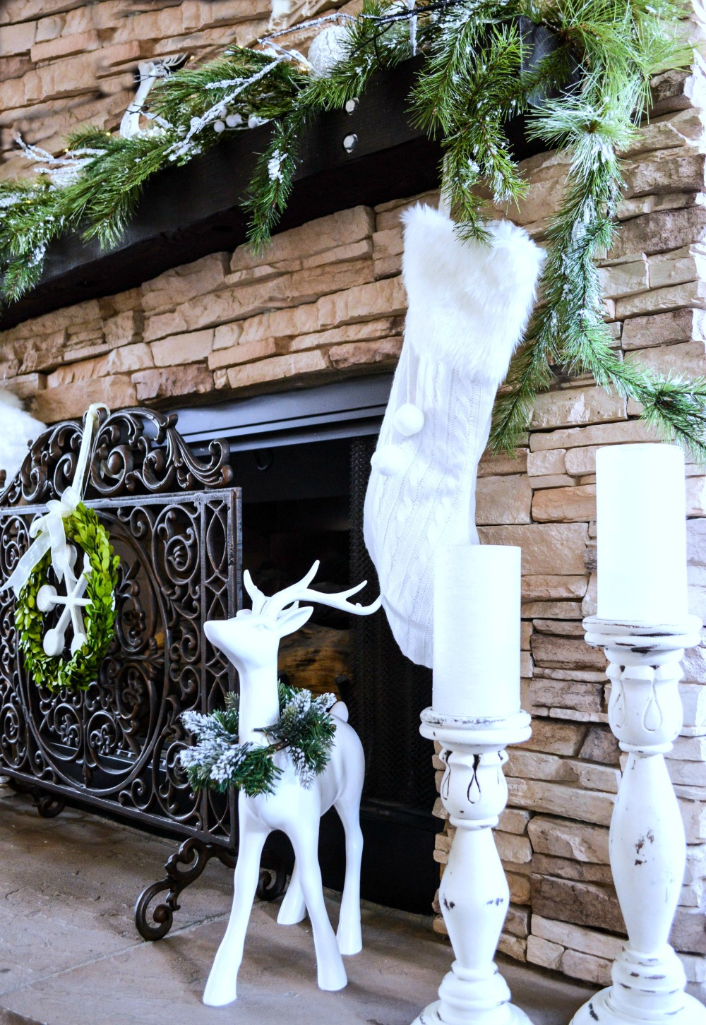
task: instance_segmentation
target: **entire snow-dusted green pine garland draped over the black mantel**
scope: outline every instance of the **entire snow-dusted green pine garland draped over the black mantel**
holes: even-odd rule
[[[400,0],[364,0],[355,16],[296,27],[346,27],[341,59],[325,76],[282,45],[287,32],[261,40],[258,50],[231,47],[158,82],[148,133],[75,133],[65,158],[45,161],[39,179],[0,183],[0,295],[12,301],[36,285],[47,246],[67,232],[114,246],[151,176],[188,163],[227,130],[267,121],[271,139],[245,203],[249,241],[262,248],[291,195],[307,122],[357,98],[375,72],[419,49],[425,59],[412,114],[442,137],[443,190],[462,238],[487,235],[479,187],[510,207],[527,193],[505,134],[509,118],[527,115],[532,136],[571,156],[547,235],[542,304],[496,404],[492,447],[514,449],[558,366],[635,400],[658,433],[706,462],[706,378],[663,377],[624,363],[605,324],[595,268],[614,241],[619,155],[647,112],[651,76],[691,60],[676,42],[682,13],[671,0],[419,0],[411,10]],[[533,26],[556,42],[540,60],[530,48]]]

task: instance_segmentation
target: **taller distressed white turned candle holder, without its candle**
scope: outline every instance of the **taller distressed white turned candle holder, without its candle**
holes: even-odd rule
[[[701,640],[701,620],[635,623],[590,616],[586,641],[608,657],[608,719],[628,755],[611,821],[613,879],[628,940],[613,985],[572,1025],[706,1025],[706,1008],[684,992],[668,939],[683,878],[684,831],[664,760],[679,734],[679,661]]]

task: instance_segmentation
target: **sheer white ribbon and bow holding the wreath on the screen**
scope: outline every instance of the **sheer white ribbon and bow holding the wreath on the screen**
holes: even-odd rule
[[[83,498],[86,486],[86,469],[88,468],[88,457],[90,455],[93,434],[98,423],[98,411],[105,409],[110,415],[110,409],[103,403],[93,403],[88,407],[79,449],[79,458],[76,464],[73,484],[65,488],[60,498],[52,498],[46,503],[47,512],[34,521],[30,527],[30,537],[36,540],[30,545],[25,555],[15,566],[12,575],[5,580],[0,587],[0,591],[11,587],[15,598],[19,598],[19,592],[30,579],[32,572],[39,561],[51,550],[51,565],[59,580],[71,580],[73,576],[72,565],[69,561],[69,548],[67,546],[67,535],[64,529],[64,521],[67,517],[76,511],[79,502]]]

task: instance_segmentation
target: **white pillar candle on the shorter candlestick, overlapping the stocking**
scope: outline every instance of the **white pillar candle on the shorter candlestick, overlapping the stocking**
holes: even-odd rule
[[[431,707],[502,719],[520,711],[522,550],[459,544],[434,567]]]

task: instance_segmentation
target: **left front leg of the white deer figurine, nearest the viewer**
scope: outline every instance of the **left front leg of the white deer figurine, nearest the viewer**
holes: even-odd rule
[[[245,933],[260,874],[260,855],[269,830],[240,809],[240,846],[233,881],[233,907],[225,935],[213,961],[204,1003],[220,1008],[236,999],[238,970],[243,960]]]

